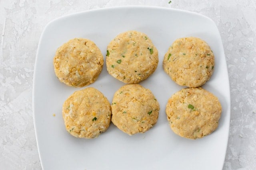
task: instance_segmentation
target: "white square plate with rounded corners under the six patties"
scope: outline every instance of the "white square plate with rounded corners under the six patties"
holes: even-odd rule
[[[146,33],[159,51],[156,71],[140,83],[149,88],[160,103],[156,125],[144,134],[133,136],[113,124],[96,139],[71,136],[62,119],[62,104],[74,91],[82,88],[69,87],[58,81],[53,67],[56,49],[69,39],[81,37],[94,41],[105,56],[108,43],[128,30]],[[174,134],[165,113],[168,98],[185,87],[175,84],[164,72],[164,54],[175,39],[189,36],[204,39],[214,52],[214,73],[203,88],[219,98],[223,109],[218,129],[197,140]],[[104,65],[100,76],[90,86],[100,90],[112,102],[114,92],[123,85],[108,74]],[[45,27],[38,45],[33,113],[43,169],[221,170],[228,142],[230,89],[218,29],[212,20],[200,14],[157,7],[105,8],[58,18]]]

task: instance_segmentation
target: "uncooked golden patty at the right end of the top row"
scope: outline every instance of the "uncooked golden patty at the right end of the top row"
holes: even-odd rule
[[[214,70],[214,54],[202,39],[176,39],[164,55],[164,71],[181,86],[199,87]]]

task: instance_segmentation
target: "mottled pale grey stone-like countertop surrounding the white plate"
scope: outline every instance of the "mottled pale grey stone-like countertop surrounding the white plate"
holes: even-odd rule
[[[224,45],[231,94],[224,170],[256,169],[255,0],[1,0],[0,169],[41,169],[32,114],[36,51],[46,24],[60,16],[111,6],[162,6],[211,18]]]

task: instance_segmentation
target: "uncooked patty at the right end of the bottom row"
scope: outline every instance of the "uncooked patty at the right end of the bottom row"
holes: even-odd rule
[[[172,131],[189,139],[212,133],[218,127],[221,111],[218,98],[201,87],[176,92],[166,105]]]

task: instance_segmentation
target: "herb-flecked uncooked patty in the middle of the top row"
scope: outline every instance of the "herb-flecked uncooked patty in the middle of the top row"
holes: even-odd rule
[[[156,70],[157,65],[158,50],[144,33],[120,33],[107,47],[107,70],[124,83],[145,80]]]

